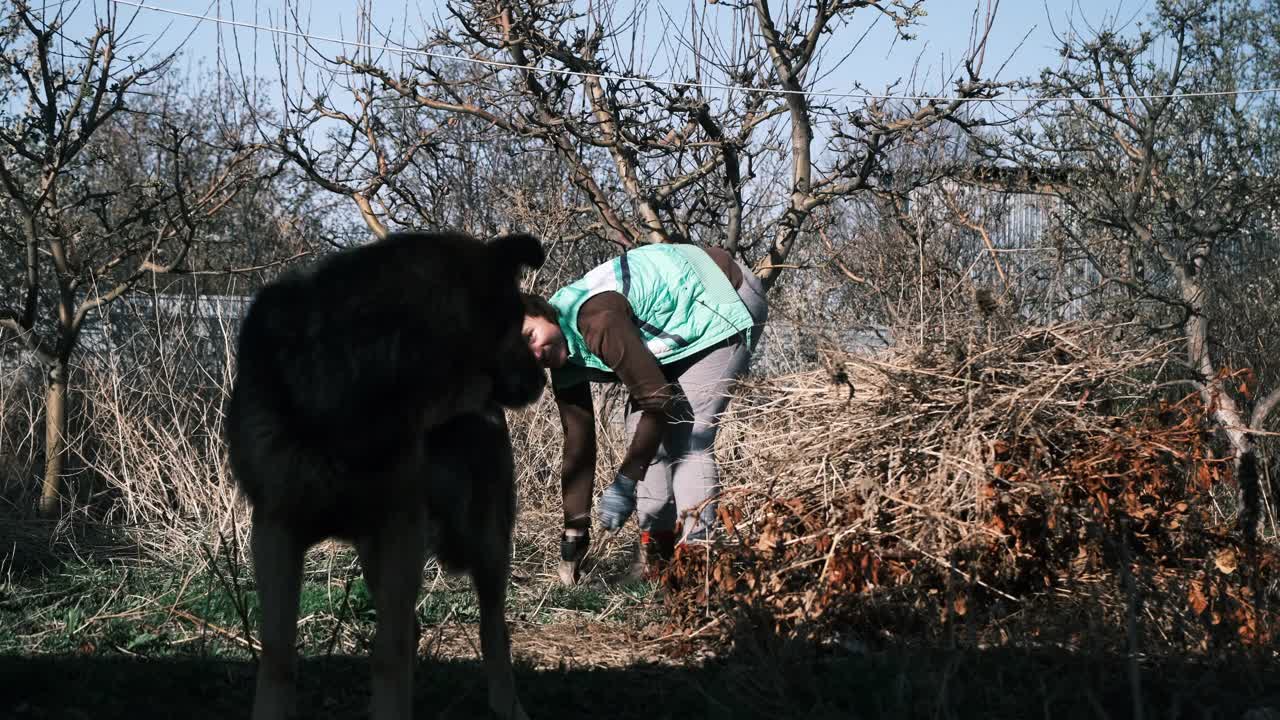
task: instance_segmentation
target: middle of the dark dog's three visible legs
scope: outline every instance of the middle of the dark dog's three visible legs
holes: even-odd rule
[[[374,720],[412,717],[417,655],[413,605],[426,564],[426,537],[410,514],[388,518],[372,537],[356,546],[378,612],[371,659]]]

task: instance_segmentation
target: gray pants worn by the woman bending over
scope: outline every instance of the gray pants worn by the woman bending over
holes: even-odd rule
[[[755,322],[750,343],[755,347],[768,316],[768,304],[760,281],[741,263],[739,266],[742,268],[742,286],[737,295]],[[667,378],[676,386],[676,400],[662,446],[636,486],[636,523],[641,530],[672,530],[680,520],[681,539],[690,539],[703,537],[714,523],[716,505],[707,501],[719,495],[721,486],[712,448],[721,415],[728,407],[730,387],[746,373],[751,359],[745,341],[732,338],[695,356],[692,363],[664,368]],[[628,404],[628,438],[635,433],[640,415]]]

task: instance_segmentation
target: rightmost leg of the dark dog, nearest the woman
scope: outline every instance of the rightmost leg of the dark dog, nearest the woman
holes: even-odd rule
[[[485,553],[484,561],[471,570],[471,582],[480,603],[480,652],[489,683],[489,707],[503,720],[529,720],[516,697],[516,679],[511,669],[511,637],[507,633],[507,579],[511,562],[507,555]]]

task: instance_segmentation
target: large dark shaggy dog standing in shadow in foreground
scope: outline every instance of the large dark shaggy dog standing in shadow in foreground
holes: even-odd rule
[[[422,566],[468,571],[489,702],[522,719],[504,619],[515,520],[502,406],[544,375],[521,336],[530,236],[397,233],[262,288],[241,329],[227,407],[232,471],[252,505],[262,607],[256,720],[294,705],[307,547],[356,544],[372,592],[372,716],[407,719]]]

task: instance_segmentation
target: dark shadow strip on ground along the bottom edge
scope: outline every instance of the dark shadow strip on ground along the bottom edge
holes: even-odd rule
[[[246,661],[120,656],[0,657],[0,716],[247,717]],[[1280,719],[1280,671],[1254,662],[1143,667],[1140,708],[1119,657],[920,651],[844,657],[728,657],[699,666],[522,667],[535,719],[1188,717]],[[488,717],[476,662],[422,662],[417,717]],[[364,716],[362,657],[306,660],[300,717]]]

